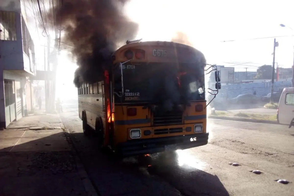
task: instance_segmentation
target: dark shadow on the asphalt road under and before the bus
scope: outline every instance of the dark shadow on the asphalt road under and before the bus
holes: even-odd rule
[[[83,133],[71,137],[101,195],[229,195],[216,175],[179,167],[177,156],[166,158],[161,153],[139,162],[137,157],[119,160],[101,153],[95,138],[85,138]]]

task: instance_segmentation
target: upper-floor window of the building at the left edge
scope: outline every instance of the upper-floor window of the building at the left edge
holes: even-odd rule
[[[15,12],[0,11],[0,40],[16,40]]]

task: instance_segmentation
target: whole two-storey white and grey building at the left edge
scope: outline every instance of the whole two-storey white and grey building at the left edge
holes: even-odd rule
[[[0,3],[0,128],[33,108],[34,43],[20,0]]]

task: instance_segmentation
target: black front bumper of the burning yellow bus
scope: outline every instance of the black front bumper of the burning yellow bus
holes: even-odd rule
[[[198,133],[192,135],[170,136],[164,138],[150,138],[129,140],[117,146],[117,152],[123,156],[135,156],[142,154],[153,154],[165,151],[166,145],[176,144],[175,150],[184,150],[203,146],[208,143],[209,133]],[[191,138],[194,138],[191,141]]]

